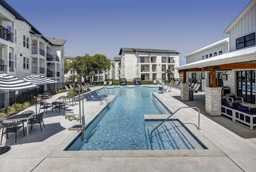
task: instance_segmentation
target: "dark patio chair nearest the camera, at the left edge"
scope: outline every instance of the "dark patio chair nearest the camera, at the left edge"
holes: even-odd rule
[[[15,132],[15,143],[17,143],[17,131],[21,128],[23,128],[23,135],[25,137],[25,131],[24,131],[24,125],[23,126],[18,126],[19,122],[10,122],[10,123],[1,123],[0,129],[2,129],[2,137],[1,137],[1,143],[2,145],[2,140],[3,140],[3,135],[6,135],[6,139],[8,139],[8,134]],[[4,128],[6,130],[4,131]]]

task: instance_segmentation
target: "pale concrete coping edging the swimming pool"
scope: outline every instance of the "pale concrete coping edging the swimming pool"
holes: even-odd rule
[[[153,93],[171,112],[174,112],[172,106],[169,106],[163,99],[157,96],[157,93]],[[116,96],[114,96],[110,102],[112,102]],[[87,119],[88,123],[92,122],[107,105],[97,109]],[[156,115],[150,115],[147,118],[156,118]],[[157,115],[157,118],[166,118],[169,115]],[[188,121],[177,113],[176,118],[182,123]],[[178,116],[178,118],[177,118]],[[208,149],[197,149],[197,150],[104,150],[104,151],[64,151],[73,141],[77,138],[81,132],[72,132],[59,146],[54,149],[47,158],[83,158],[83,157],[184,157],[184,156],[227,156],[217,146],[215,146],[208,138],[206,138],[200,130],[194,125],[186,125],[186,128],[195,135]]]

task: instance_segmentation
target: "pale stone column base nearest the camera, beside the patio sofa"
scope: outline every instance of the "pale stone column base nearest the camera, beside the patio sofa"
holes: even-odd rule
[[[205,87],[205,112],[221,116],[221,87]]]

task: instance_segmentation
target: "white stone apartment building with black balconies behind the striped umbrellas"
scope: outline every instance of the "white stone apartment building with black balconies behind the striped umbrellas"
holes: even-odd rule
[[[4,0],[0,0],[0,72],[20,79],[39,74],[64,82],[64,43],[44,37]]]

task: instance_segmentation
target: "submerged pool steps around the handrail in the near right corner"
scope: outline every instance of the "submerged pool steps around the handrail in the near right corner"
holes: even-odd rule
[[[197,149],[201,147],[195,138],[177,120],[166,121],[158,127],[153,132],[153,142],[150,142],[151,131],[160,123],[161,121],[145,122],[148,149]]]

